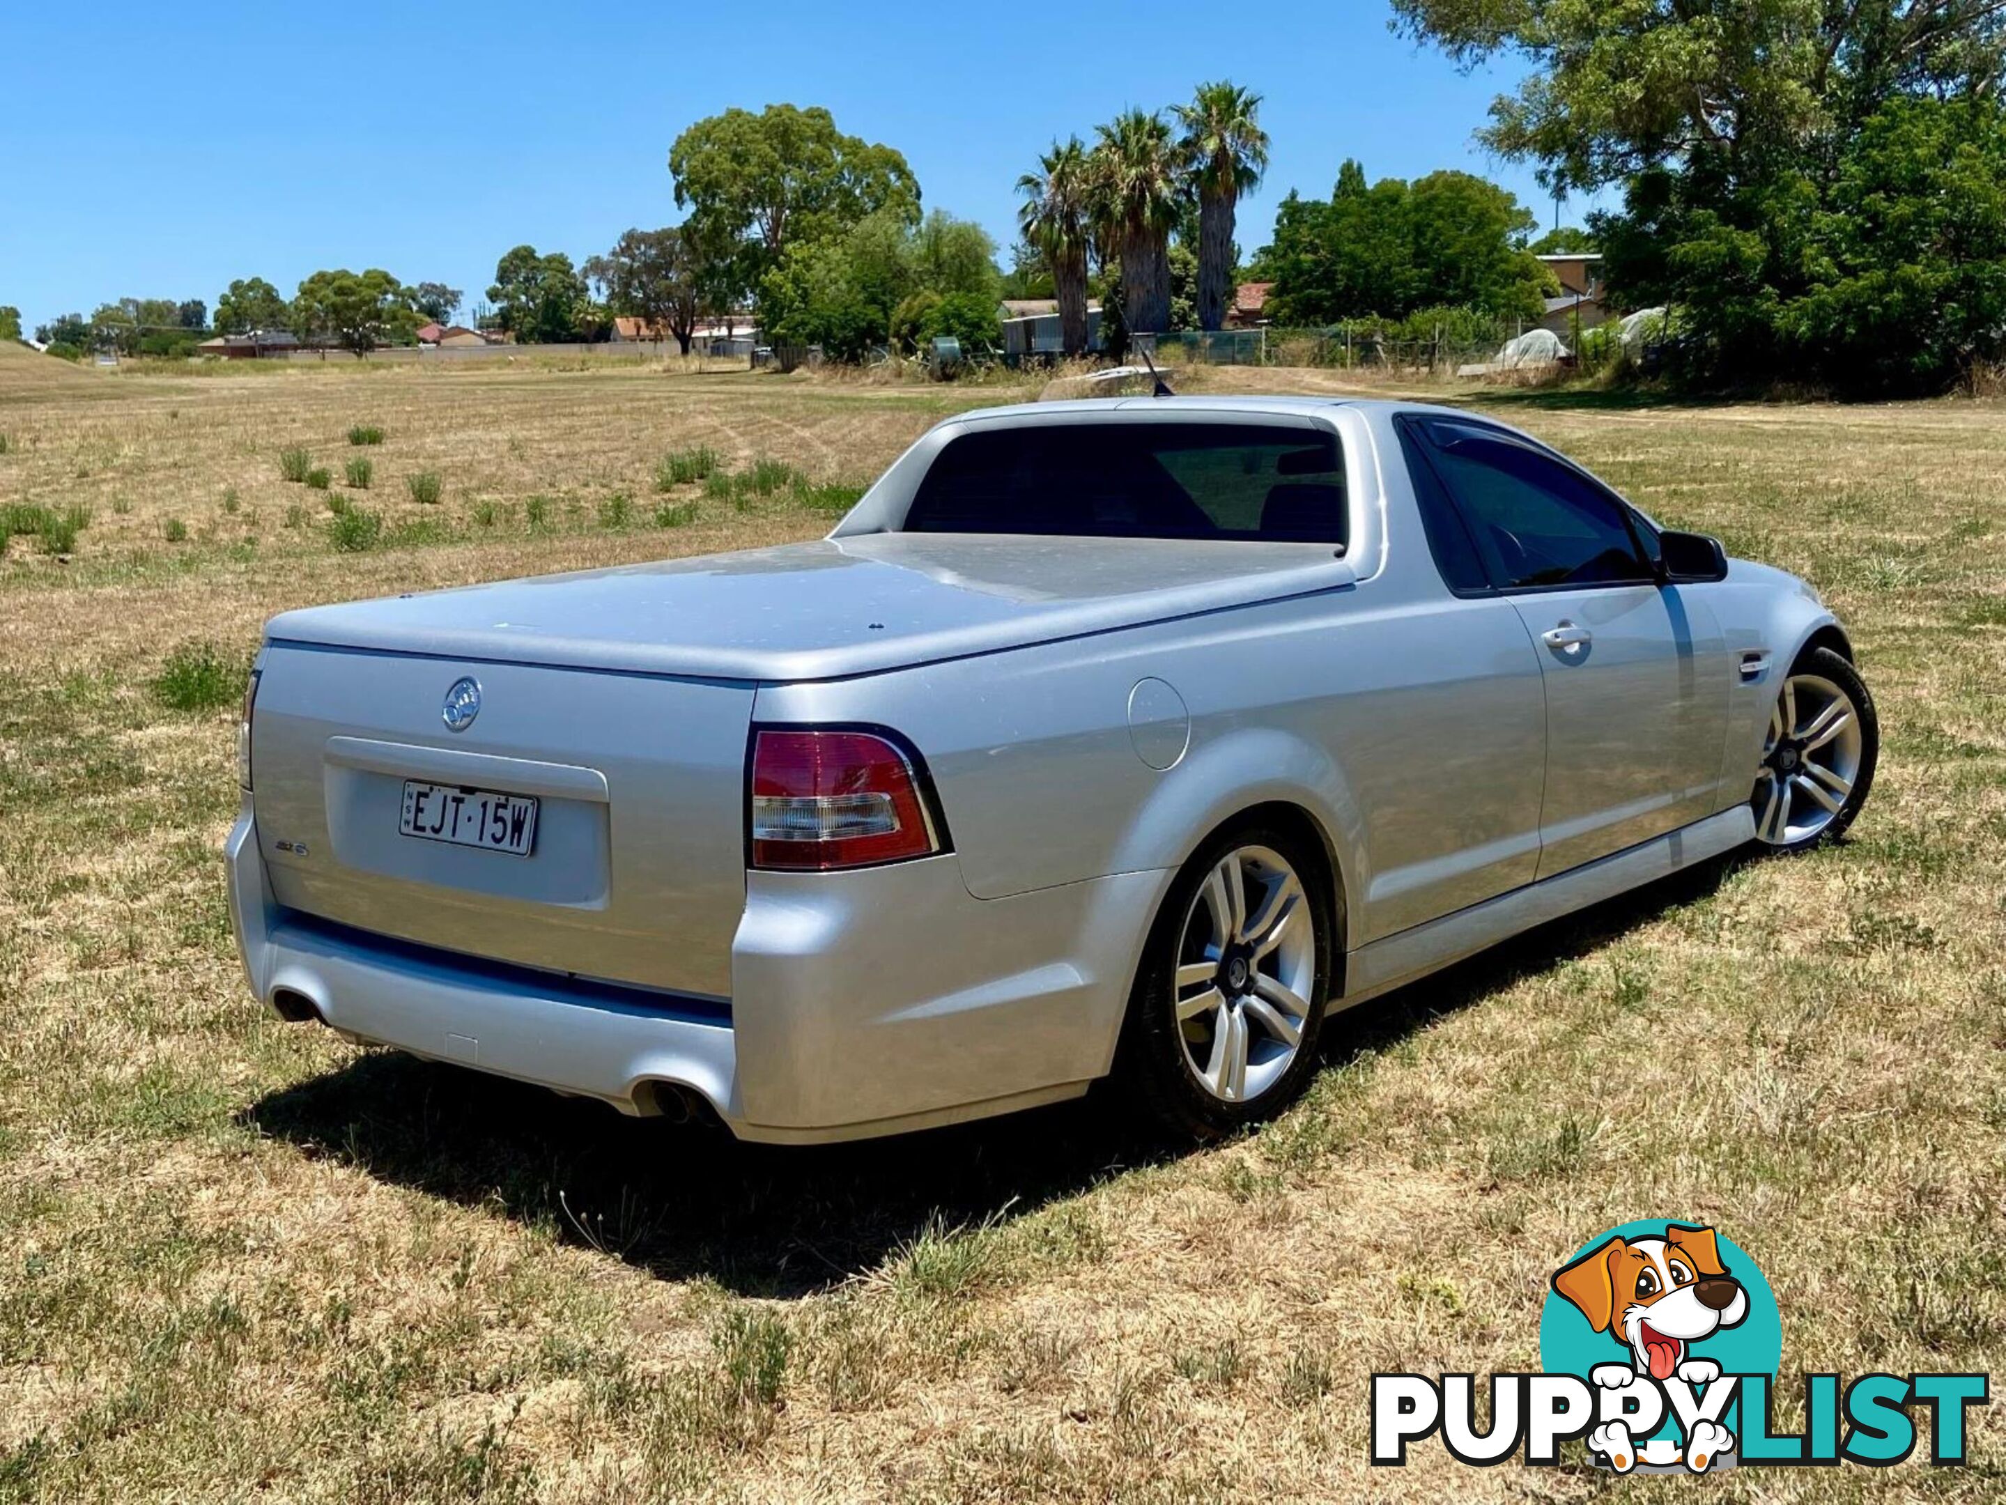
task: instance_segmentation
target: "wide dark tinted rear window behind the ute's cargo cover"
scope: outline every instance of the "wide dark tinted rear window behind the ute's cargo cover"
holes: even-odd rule
[[[963,433],[907,510],[919,534],[1238,538],[1344,546],[1330,433],[1254,423],[1065,423]]]

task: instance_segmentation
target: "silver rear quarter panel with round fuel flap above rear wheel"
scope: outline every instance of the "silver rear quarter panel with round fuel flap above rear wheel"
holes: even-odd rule
[[[754,716],[875,722],[913,738],[967,887],[985,899],[1172,869],[1234,813],[1298,805],[1330,841],[1356,945],[1454,907],[1452,877],[1378,879],[1424,865],[1444,843],[1460,851],[1509,841],[1517,833],[1478,829],[1480,811],[1537,811],[1543,777],[1539,668],[1523,628],[1513,622],[1486,638],[1438,602],[1424,610],[1370,592],[1354,586],[899,674],[762,688]],[[1143,761],[1129,726],[1143,678],[1169,684],[1188,712],[1184,755],[1161,771]],[[1527,757],[1496,767],[1468,736],[1472,716],[1523,722]],[[1174,746],[1176,728],[1149,722],[1143,740],[1161,763],[1155,748]],[[1502,781],[1515,797],[1458,801],[1466,781]],[[1476,887],[1488,881],[1470,875]],[[1366,903],[1374,891],[1384,903]]]

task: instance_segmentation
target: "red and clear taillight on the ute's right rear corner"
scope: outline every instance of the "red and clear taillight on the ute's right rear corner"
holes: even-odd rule
[[[941,851],[913,757],[877,732],[758,732],[750,827],[752,867],[828,871]]]

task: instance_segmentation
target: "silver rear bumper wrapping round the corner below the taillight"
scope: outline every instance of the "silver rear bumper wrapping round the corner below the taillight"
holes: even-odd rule
[[[429,1060],[658,1110],[700,1094],[744,1140],[897,1134],[1085,1092],[1113,1060],[1165,873],[975,899],[959,863],[754,873],[732,999],[495,967],[275,903],[257,831],[227,845],[251,991]]]

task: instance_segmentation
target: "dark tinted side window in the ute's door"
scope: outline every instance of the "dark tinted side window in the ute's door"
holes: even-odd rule
[[[1502,590],[1653,580],[1623,510],[1567,466],[1474,425],[1428,435]]]

